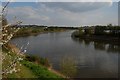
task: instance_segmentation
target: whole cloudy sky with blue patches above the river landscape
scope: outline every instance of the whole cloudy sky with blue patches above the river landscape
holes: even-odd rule
[[[40,25],[81,26],[118,24],[118,3],[111,0],[106,1],[12,2],[8,6],[7,18],[9,22],[14,22],[14,16],[17,16],[17,20],[23,21],[22,24]]]

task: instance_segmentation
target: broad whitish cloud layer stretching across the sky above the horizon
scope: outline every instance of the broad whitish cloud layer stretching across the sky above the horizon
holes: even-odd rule
[[[11,17],[17,16],[18,19],[23,21],[23,24],[44,24],[44,25],[68,25],[68,26],[78,26],[78,25],[95,25],[95,24],[116,24],[117,21],[117,12],[111,14],[109,10],[106,10],[106,13],[102,11],[97,4],[98,8],[90,9],[90,4],[86,8],[85,6],[80,5],[83,10],[79,11],[79,4],[72,4],[72,6],[67,5],[65,8],[64,5],[54,5],[51,7],[46,6],[46,4],[38,4],[39,6],[30,7],[9,7],[8,8],[8,18],[9,21],[12,20]],[[95,4],[94,4],[95,5]],[[75,6],[75,7],[74,7]],[[56,9],[55,9],[56,7]],[[73,9],[76,9],[75,10]],[[87,9],[88,8],[88,9]],[[107,7],[108,8],[108,7]]]

